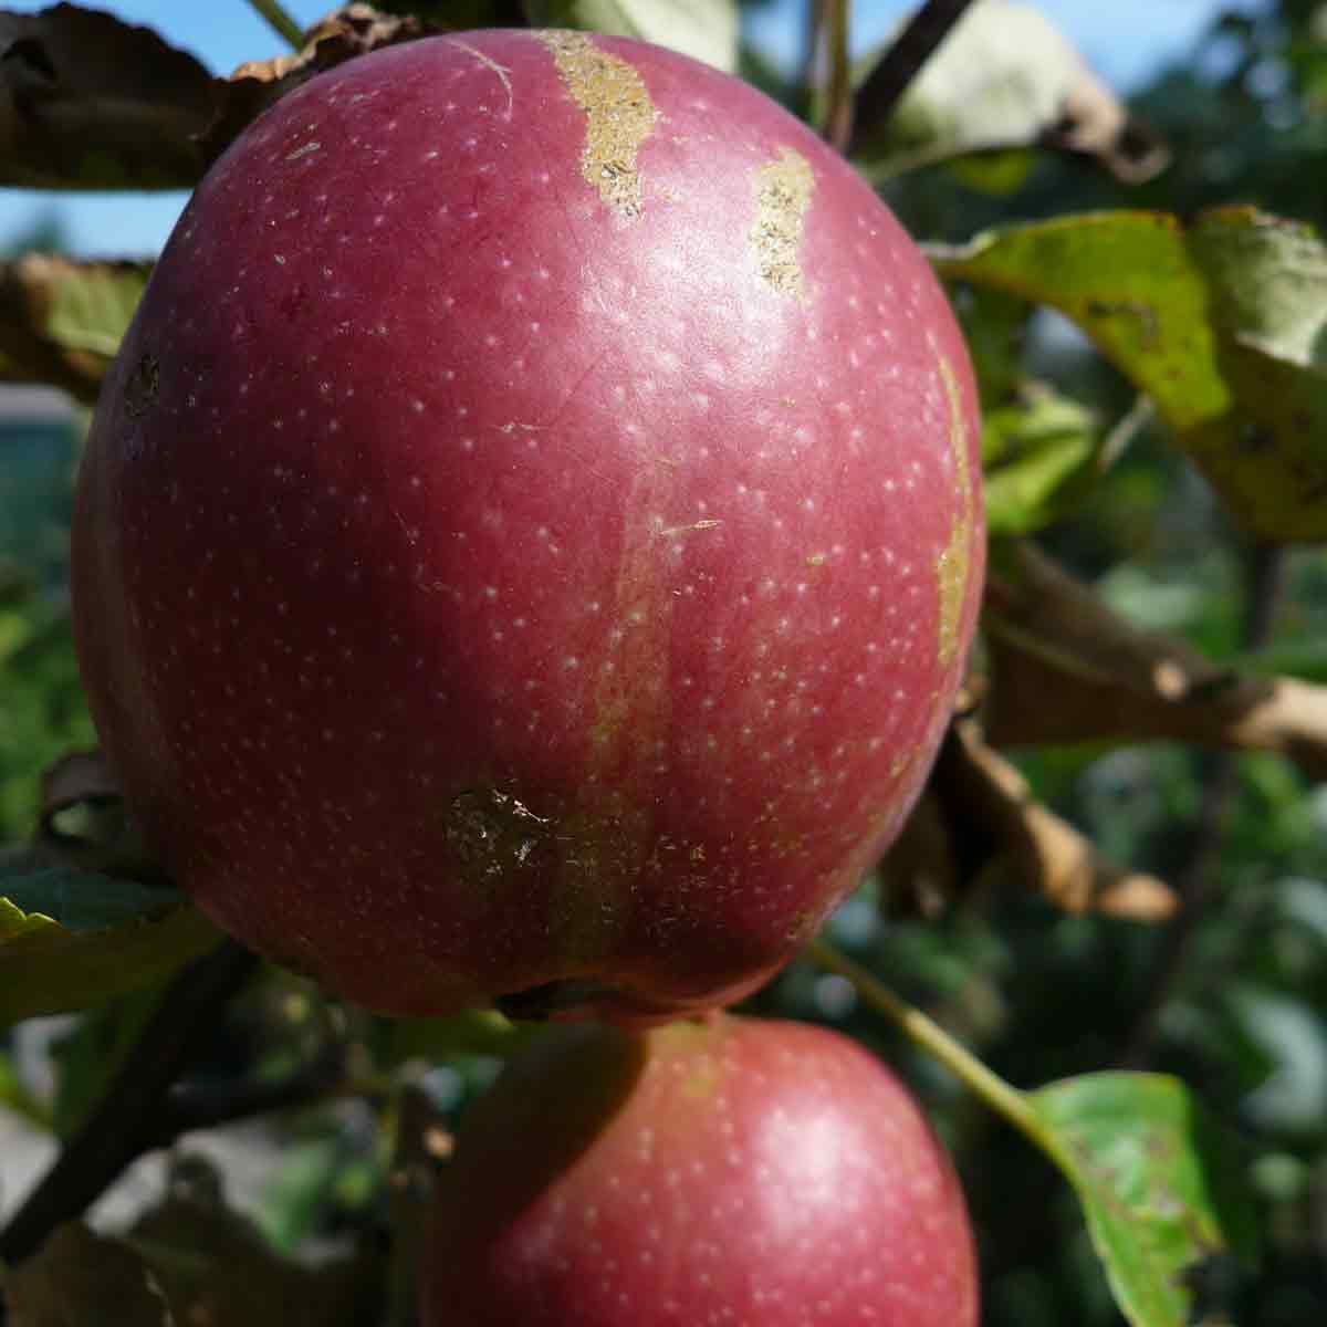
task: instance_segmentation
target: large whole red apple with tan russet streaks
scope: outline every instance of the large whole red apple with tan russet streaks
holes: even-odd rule
[[[763,94],[471,32],[287,96],[186,208],[73,528],[147,843],[373,1009],[665,1020],[894,836],[983,564],[943,292]]]

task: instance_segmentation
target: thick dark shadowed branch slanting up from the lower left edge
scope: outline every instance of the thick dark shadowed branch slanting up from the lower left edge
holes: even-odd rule
[[[256,962],[227,941],[171,982],[101,1103],[0,1234],[0,1262],[17,1263],[36,1253],[56,1226],[82,1213],[155,1145],[157,1113],[194,1054],[199,1028],[211,1024]]]

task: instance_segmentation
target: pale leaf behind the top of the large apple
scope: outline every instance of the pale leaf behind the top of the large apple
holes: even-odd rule
[[[733,0],[527,0],[537,28],[587,28],[636,37],[735,73],[738,7]]]

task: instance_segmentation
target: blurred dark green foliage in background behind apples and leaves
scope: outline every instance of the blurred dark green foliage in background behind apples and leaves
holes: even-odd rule
[[[1140,40],[1143,37],[1140,36]],[[796,89],[747,52],[744,73],[784,101]],[[1003,192],[945,166],[889,179],[882,192],[914,235],[959,242],[1010,220],[1088,208],[1189,216],[1247,202],[1327,227],[1327,5],[1278,0],[1231,12],[1192,60],[1131,102],[1172,149],[1156,179],[1125,186],[1059,154],[1036,154]],[[989,183],[989,182],[987,182]],[[20,248],[58,247],[37,218]],[[1103,419],[1133,391],[1070,326],[1036,313],[1018,368]],[[40,406],[40,409],[37,409]],[[33,410],[37,409],[37,417]],[[81,417],[28,399],[0,414],[0,836],[32,831],[40,775],[93,740],[66,617],[65,532]],[[1039,535],[1131,621],[1172,632],[1214,661],[1246,650],[1270,614],[1265,654],[1327,679],[1327,556],[1294,548],[1266,575],[1263,551],[1233,527],[1161,431],[1144,426],[1072,511]],[[1209,1322],[1327,1323],[1327,790],[1270,755],[1226,758],[1178,744],[1015,752],[1036,792],[1111,857],[1170,881],[1186,900],[1165,925],[1068,917],[1016,881],[978,878],[932,916],[900,916],[868,881],[832,937],[930,1009],[1019,1085],[1107,1067],[1176,1072],[1241,1135],[1261,1205],[1255,1273],[1213,1266]],[[11,1107],[68,1133],[142,1019],[134,997],[50,1026],[49,1078]],[[851,986],[794,965],[752,1005],[829,1023],[898,1063],[953,1147],[981,1231],[987,1327],[1113,1327],[1120,1322],[1062,1178],[943,1070],[857,1007]],[[384,1120],[399,1108],[385,1075],[411,1066],[433,1109],[451,1117],[498,1060],[482,1022],[389,1024],[329,1010],[269,974],[216,1030],[218,1072],[257,1064],[279,1078],[316,1056],[329,1026],[353,1048],[358,1095],[344,1089],[279,1117],[284,1147],[259,1225],[279,1250],[386,1220]],[[496,1034],[495,1034],[496,1035]],[[0,1079],[12,1082],[17,1042]],[[312,1047],[312,1048],[311,1048]],[[31,1046],[29,1046],[31,1051]],[[1223,1316],[1222,1316],[1223,1315]]]

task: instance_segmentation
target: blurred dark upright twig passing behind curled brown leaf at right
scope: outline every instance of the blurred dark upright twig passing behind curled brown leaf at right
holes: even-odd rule
[[[1245,649],[1261,649],[1271,636],[1285,588],[1285,549],[1281,547],[1255,544],[1249,553],[1247,606],[1241,629]],[[1141,1014],[1135,1020],[1121,1059],[1127,1068],[1141,1070],[1152,1063],[1160,1042],[1161,1016],[1184,975],[1198,928],[1217,897],[1226,823],[1239,788],[1238,775],[1234,752],[1218,751],[1204,758],[1201,800],[1188,861],[1174,877],[1181,906],[1161,936],[1160,951],[1143,995]]]

